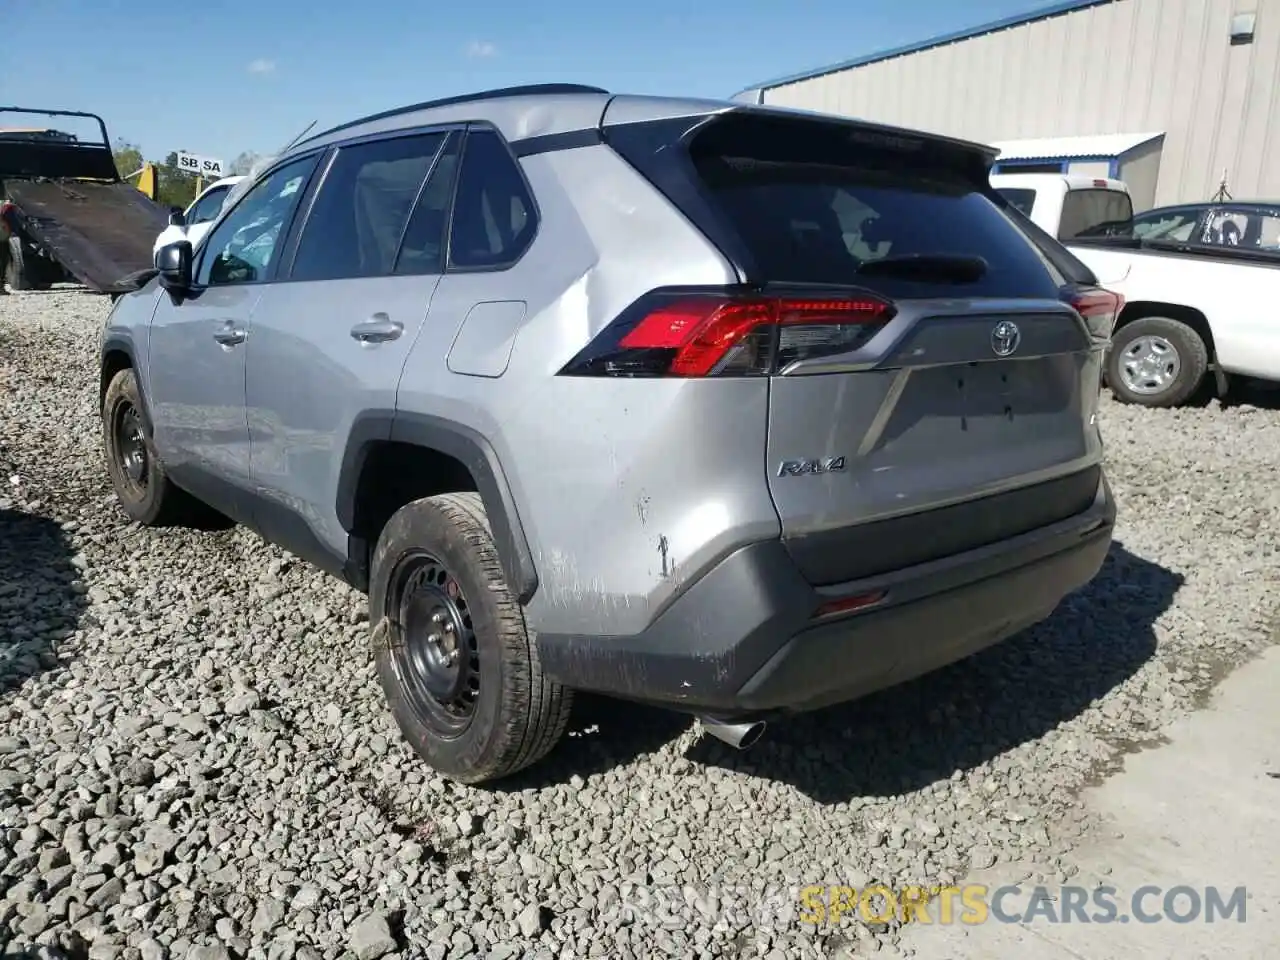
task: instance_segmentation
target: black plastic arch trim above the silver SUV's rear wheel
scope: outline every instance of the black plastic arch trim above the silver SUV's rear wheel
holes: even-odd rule
[[[493,444],[463,424],[426,413],[389,410],[369,411],[357,417],[347,439],[342,472],[338,476],[337,513],[343,529],[355,534],[360,475],[365,461],[379,443],[404,443],[438,451],[466,466],[484,502],[507,584],[518,603],[527,604],[538,591],[538,571],[516,499]]]

